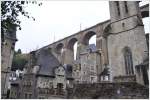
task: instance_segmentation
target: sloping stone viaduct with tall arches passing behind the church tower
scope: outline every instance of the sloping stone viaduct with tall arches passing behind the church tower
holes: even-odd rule
[[[140,7],[142,18],[149,16],[149,5],[144,5]],[[97,48],[97,61],[98,65],[105,65],[108,63],[107,57],[107,43],[105,40],[105,30],[107,30],[110,20],[98,23],[92,27],[85,30],[77,32],[71,36],[65,37],[59,41],[49,44],[40,49],[49,49],[58,58],[62,64],[73,64],[74,61],[74,50],[73,46],[77,42],[77,60],[81,52],[89,45],[89,39],[96,35],[96,48]],[[40,50],[39,49],[39,50]],[[37,50],[37,52],[39,51]]]

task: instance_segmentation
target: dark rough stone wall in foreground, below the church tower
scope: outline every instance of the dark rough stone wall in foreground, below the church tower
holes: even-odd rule
[[[136,82],[75,84],[68,89],[73,99],[148,99],[149,88]]]

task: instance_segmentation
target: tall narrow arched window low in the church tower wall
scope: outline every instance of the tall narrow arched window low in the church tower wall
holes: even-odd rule
[[[132,53],[129,47],[124,48],[124,61],[125,61],[125,69],[127,75],[134,74],[133,71],[133,61],[132,61]]]

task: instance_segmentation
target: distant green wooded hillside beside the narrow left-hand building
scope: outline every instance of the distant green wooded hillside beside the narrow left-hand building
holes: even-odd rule
[[[25,65],[28,63],[28,59],[25,54],[21,54],[21,49],[14,53],[13,61],[12,61],[12,68],[11,70],[20,69],[23,70]]]

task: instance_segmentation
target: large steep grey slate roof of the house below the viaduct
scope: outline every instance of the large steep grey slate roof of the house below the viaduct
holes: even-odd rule
[[[50,51],[42,49],[37,57],[37,65],[40,66],[38,75],[54,77],[54,69],[60,66],[60,63]]]

